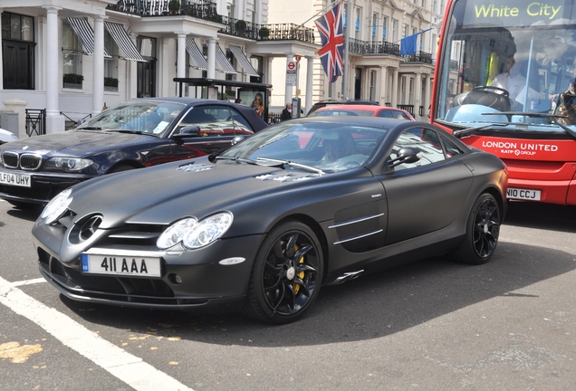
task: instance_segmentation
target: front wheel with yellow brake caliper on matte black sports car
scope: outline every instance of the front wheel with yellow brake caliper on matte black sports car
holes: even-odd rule
[[[276,226],[256,253],[244,312],[273,324],[301,319],[322,285],[322,246],[297,221]]]

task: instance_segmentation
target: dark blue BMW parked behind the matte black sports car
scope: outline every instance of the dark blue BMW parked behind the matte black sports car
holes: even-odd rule
[[[130,100],[72,131],[0,146],[0,198],[46,204],[87,179],[204,156],[267,126],[254,110],[227,101]]]

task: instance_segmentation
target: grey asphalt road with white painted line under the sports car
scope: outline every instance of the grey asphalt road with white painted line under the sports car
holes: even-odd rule
[[[493,261],[323,288],[299,322],[63,298],[0,201],[3,390],[576,390],[576,208],[514,203]]]

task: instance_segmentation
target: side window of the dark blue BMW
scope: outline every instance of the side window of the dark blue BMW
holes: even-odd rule
[[[189,110],[180,121],[177,133],[187,126],[197,126],[199,136],[233,136],[254,133],[242,114],[227,106],[196,106]]]

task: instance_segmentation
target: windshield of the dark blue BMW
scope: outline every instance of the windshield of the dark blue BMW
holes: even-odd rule
[[[118,130],[158,135],[186,105],[158,100],[132,100],[102,111],[78,130]]]

